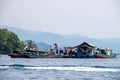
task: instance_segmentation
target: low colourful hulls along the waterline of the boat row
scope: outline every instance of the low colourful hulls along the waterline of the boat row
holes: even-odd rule
[[[9,54],[11,58],[115,58],[116,54],[111,55],[104,55],[104,54],[96,54],[91,56],[65,56],[65,55],[59,55],[59,54],[46,54],[46,55],[30,55],[30,53],[25,54],[18,54],[18,53],[12,53]]]

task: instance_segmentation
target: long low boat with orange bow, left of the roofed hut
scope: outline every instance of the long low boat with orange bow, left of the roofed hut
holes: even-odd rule
[[[60,54],[54,54],[44,51],[26,50],[22,52],[14,51],[8,54],[11,58],[62,58]]]

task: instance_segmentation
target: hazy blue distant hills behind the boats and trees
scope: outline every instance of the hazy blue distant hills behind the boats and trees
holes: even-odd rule
[[[16,33],[21,40],[34,40],[38,43],[39,49],[49,48],[49,45],[58,43],[59,46],[76,46],[82,42],[89,42],[97,47],[110,48],[114,52],[120,52],[120,39],[93,39],[86,36],[74,35],[59,35],[42,31],[23,30],[7,25],[1,25],[0,28],[7,28]]]

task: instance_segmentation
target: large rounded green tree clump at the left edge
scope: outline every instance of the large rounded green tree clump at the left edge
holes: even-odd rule
[[[21,50],[23,47],[22,42],[15,33],[7,29],[0,29],[0,51],[9,53],[12,50]]]

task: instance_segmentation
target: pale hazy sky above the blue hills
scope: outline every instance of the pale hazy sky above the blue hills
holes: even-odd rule
[[[0,0],[0,25],[96,39],[120,38],[120,1]]]

